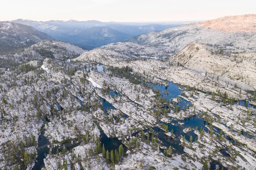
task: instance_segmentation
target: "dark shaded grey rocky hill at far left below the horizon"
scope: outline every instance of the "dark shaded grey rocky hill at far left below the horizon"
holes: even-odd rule
[[[0,22],[0,53],[31,46],[41,40],[53,40],[53,38],[32,26]]]

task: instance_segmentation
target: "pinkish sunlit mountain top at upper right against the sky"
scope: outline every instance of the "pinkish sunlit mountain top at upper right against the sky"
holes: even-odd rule
[[[256,32],[256,14],[226,16],[196,24],[223,32]]]

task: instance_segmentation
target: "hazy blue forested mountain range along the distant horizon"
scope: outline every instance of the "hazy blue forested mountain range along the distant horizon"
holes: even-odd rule
[[[123,41],[136,35],[162,31],[181,25],[179,23],[144,23],[145,25],[143,25],[143,23],[100,22],[97,20],[33,21],[18,19],[12,22],[32,26],[56,40],[67,41],[84,49],[93,49],[108,43]]]

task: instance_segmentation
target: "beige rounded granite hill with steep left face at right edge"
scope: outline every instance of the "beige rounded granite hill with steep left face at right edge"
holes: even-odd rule
[[[218,76],[243,89],[256,89],[255,52],[234,54],[227,49],[217,49],[194,42],[171,57],[170,62],[199,73]]]

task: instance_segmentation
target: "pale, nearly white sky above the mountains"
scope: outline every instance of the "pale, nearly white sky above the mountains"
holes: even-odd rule
[[[255,0],[2,0],[0,20],[178,22],[256,14]]]

